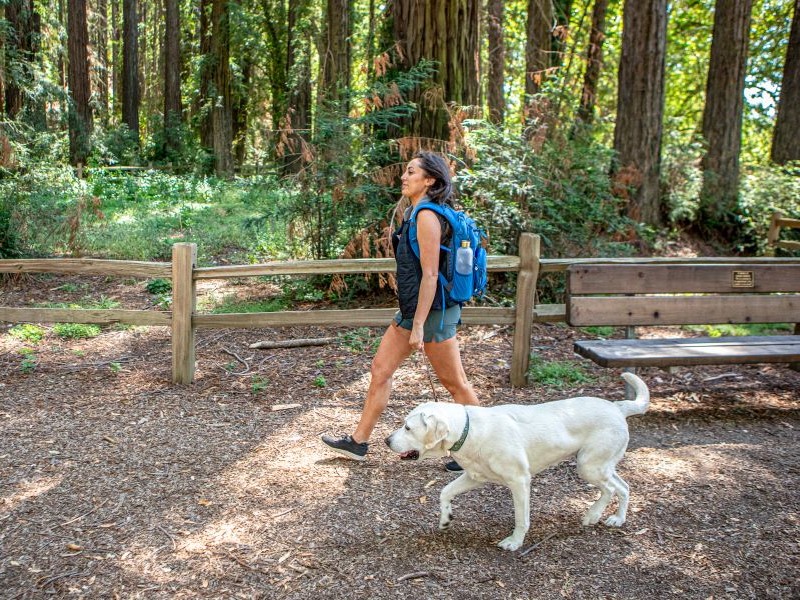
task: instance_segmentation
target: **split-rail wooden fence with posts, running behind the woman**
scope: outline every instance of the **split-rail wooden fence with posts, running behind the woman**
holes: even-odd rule
[[[198,279],[224,279],[263,275],[319,275],[386,273],[395,269],[394,259],[339,259],[283,261],[258,265],[224,267],[196,266],[194,244],[175,244],[170,263],[98,259],[21,259],[0,260],[0,273],[91,274],[172,280],[172,310],[11,308],[0,306],[0,321],[11,323],[96,323],[163,325],[172,330],[172,379],[190,383],[195,371],[194,332],[199,328],[254,328],[318,325],[320,327],[374,327],[387,325],[394,308],[355,310],[310,310],[270,313],[197,313],[195,284]],[[466,306],[465,325],[513,325],[511,384],[522,386],[530,358],[531,326],[534,322],[563,322],[563,304],[536,304],[536,284],[540,274],[563,272],[572,264],[685,264],[685,263],[787,263],[800,258],[573,258],[547,259],[540,255],[539,236],[520,237],[519,256],[490,256],[494,272],[518,272],[516,301],[513,307]]]

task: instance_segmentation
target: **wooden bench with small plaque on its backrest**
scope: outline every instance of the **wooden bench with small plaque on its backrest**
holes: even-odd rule
[[[795,323],[795,335],[584,340],[603,367],[800,362],[800,263],[572,265],[573,327]],[[631,336],[629,336],[631,337]]]

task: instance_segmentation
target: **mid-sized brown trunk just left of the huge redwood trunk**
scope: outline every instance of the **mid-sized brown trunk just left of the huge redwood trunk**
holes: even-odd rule
[[[321,103],[340,102],[339,112],[349,112],[350,36],[353,32],[350,0],[327,0],[325,40],[319,57]]]

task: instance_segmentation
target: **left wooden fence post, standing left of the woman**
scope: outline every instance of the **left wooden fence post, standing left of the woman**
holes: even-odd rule
[[[195,283],[192,271],[197,259],[196,244],[172,246],[172,382],[194,379]]]

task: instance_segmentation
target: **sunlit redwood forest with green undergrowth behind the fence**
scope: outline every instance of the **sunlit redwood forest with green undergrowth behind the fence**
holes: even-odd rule
[[[514,253],[763,250],[800,214],[800,0],[5,0],[0,258],[386,256],[446,153]],[[139,167],[139,168],[132,168]],[[374,282],[370,285],[374,285]]]

